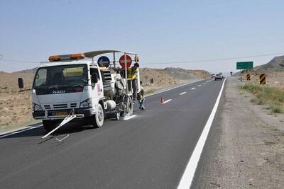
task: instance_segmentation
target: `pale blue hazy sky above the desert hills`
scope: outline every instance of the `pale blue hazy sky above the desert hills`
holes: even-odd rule
[[[37,67],[31,62],[53,54],[115,49],[137,52],[141,67],[236,71],[237,61],[265,64],[274,55],[192,61],[284,55],[283,7],[283,0],[0,0],[0,70]]]

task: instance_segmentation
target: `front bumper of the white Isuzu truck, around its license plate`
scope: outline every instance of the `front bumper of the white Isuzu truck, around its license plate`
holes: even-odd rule
[[[67,115],[55,115],[55,113],[70,113],[71,109],[65,110],[40,110],[33,112],[33,118],[35,120],[62,120]],[[78,108],[74,109],[74,115],[76,118],[90,117],[94,115],[92,108]]]

